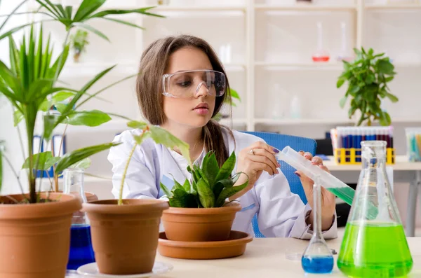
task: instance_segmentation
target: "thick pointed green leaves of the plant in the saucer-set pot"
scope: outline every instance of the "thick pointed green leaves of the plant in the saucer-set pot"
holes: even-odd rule
[[[161,189],[166,193],[170,207],[210,208],[222,207],[228,197],[246,188],[248,180],[234,186],[241,172],[231,176],[235,166],[235,153],[229,156],[222,167],[213,151],[203,158],[202,166],[189,165],[187,170],[192,173],[192,183],[186,179],[183,185],[175,181],[173,188],[168,190],[161,183]]]

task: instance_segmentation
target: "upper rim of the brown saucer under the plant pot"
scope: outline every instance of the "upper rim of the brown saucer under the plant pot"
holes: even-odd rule
[[[245,244],[253,241],[253,237],[247,232],[241,232],[238,230],[231,230],[236,234],[241,235],[239,239],[227,239],[215,242],[181,242],[176,240],[170,240],[166,238],[165,232],[159,233],[159,244],[163,246],[182,247],[182,248],[220,248],[227,246],[234,246],[239,244]],[[163,238],[165,237],[165,238]]]

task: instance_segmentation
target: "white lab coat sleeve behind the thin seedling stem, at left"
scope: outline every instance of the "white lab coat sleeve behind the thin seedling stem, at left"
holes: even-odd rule
[[[135,141],[131,131],[125,131],[117,135],[113,142],[119,142],[118,146],[110,148],[108,160],[112,163],[112,194],[119,197],[121,179],[128,157]],[[136,146],[131,161],[127,168],[126,179],[123,185],[123,199],[156,199],[158,189],[153,167],[147,167],[147,155],[141,146]]]

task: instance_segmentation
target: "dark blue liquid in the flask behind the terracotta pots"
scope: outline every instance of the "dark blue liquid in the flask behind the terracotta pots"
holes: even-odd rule
[[[72,225],[70,229],[70,252],[67,269],[77,270],[81,265],[94,262],[95,256],[92,249],[91,226]]]

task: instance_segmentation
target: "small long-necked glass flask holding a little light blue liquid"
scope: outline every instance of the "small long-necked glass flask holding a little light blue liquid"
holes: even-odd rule
[[[306,273],[323,274],[333,270],[333,255],[321,233],[321,186],[316,176],[313,186],[313,235],[301,258]]]

